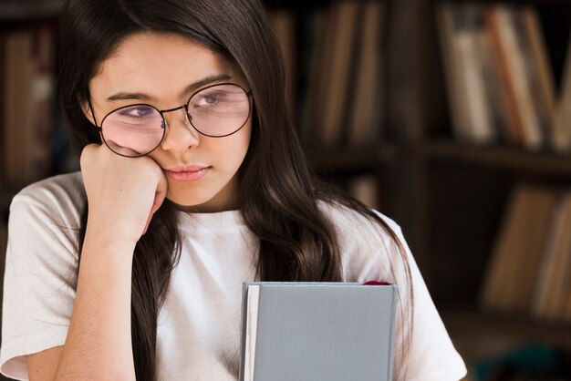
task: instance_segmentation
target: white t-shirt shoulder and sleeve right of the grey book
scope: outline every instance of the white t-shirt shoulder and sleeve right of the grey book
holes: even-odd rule
[[[356,216],[354,211],[345,211],[343,214],[337,214],[336,220],[345,280],[384,281],[396,283],[399,287],[393,378],[406,381],[462,379],[466,375],[462,357],[452,345],[400,227],[379,214],[396,234],[406,253],[410,267],[411,294],[399,246],[389,233],[381,229],[379,224]],[[412,306],[411,321],[407,306]],[[411,332],[409,341],[406,332]]]

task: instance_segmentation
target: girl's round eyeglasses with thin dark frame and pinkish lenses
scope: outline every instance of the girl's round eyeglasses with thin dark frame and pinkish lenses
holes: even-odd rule
[[[186,105],[160,110],[151,105],[135,104],[114,109],[97,125],[89,101],[91,115],[103,141],[120,156],[144,156],[161,145],[167,122],[164,113],[184,108],[192,125],[202,135],[223,138],[242,129],[250,118],[252,90],[223,83],[201,88]]]

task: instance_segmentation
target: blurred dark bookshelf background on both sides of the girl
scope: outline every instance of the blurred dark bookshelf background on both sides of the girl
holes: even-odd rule
[[[78,170],[61,3],[0,2],[2,254],[16,192]],[[465,379],[571,380],[571,1],[265,5],[312,168],[400,224]]]

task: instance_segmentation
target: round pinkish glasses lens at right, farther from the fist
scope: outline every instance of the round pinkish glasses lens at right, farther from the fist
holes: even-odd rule
[[[244,126],[250,115],[250,99],[243,88],[217,85],[196,93],[188,104],[192,126],[202,134],[223,137]]]

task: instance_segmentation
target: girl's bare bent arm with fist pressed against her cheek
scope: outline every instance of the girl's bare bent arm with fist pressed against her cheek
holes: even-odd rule
[[[84,149],[81,168],[88,226],[66,343],[59,353],[54,348],[28,357],[28,373],[47,376],[57,369],[55,379],[134,380],[132,255],[164,200],[166,180],[151,159],[120,158],[99,146]]]

